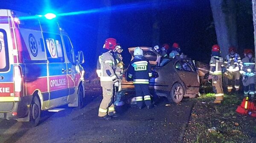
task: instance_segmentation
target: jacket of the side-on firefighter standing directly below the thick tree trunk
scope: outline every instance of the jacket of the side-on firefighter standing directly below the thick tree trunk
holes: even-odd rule
[[[219,56],[212,56],[210,61],[210,75],[221,75],[222,74],[223,59]]]

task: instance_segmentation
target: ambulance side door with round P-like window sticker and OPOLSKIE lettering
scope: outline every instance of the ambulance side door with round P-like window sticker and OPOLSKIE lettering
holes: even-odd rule
[[[48,108],[67,103],[69,95],[67,79],[67,63],[64,48],[59,34],[43,33],[47,52],[47,77],[49,90]]]

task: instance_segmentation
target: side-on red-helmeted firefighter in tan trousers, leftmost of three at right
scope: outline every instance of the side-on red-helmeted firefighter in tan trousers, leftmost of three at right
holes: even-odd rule
[[[221,103],[224,96],[222,89],[222,67],[224,67],[224,65],[223,59],[220,57],[220,47],[218,45],[213,45],[209,79],[212,79],[212,90],[215,93],[214,103],[216,104]]]

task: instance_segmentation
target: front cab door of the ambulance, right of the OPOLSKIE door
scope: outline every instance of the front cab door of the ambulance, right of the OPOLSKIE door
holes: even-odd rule
[[[67,35],[63,35],[64,46],[67,54],[67,79],[68,79],[68,88],[69,96],[67,102],[71,103],[76,100],[76,89],[78,87],[78,80],[76,79],[76,61],[73,46],[70,42],[70,38]]]

